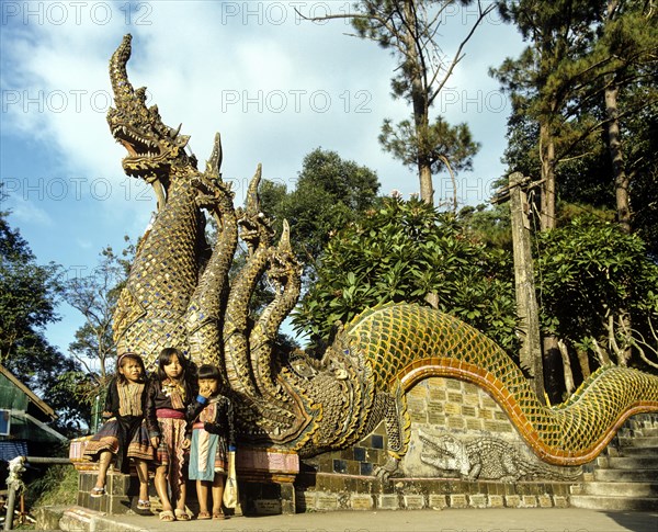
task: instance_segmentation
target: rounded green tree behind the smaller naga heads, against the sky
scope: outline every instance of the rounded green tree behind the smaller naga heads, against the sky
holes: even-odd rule
[[[330,235],[370,208],[378,190],[373,170],[317,148],[304,158],[293,191],[264,180],[260,197],[279,233],[283,219],[288,220],[293,250],[305,262],[306,279],[313,280]]]

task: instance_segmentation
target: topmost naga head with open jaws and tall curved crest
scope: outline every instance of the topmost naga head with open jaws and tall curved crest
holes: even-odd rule
[[[110,59],[110,78],[115,107],[107,111],[112,135],[128,151],[122,161],[128,176],[154,181],[162,178],[173,165],[190,162],[185,146],[186,135],[179,135],[162,123],[157,105],[146,106],[146,88],[137,90],[128,81],[126,64],[131,58],[128,34]]]

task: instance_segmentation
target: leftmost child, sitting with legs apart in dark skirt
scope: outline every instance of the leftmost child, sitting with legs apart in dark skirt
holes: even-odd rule
[[[99,462],[99,476],[91,497],[105,495],[105,480],[112,457],[116,468],[128,473],[128,459],[133,459],[139,478],[137,508],[148,510],[148,466],[155,457],[148,432],[144,425],[146,410],[146,370],[136,353],[124,353],[116,361],[116,376],[110,382],[103,418],[106,422],[89,441],[83,455]]]

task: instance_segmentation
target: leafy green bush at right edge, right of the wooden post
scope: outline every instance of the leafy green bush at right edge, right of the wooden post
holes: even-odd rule
[[[637,235],[624,234],[614,223],[581,216],[537,238],[536,278],[548,331],[600,358],[597,344],[614,352],[624,313],[631,313],[638,328],[636,337],[648,320],[656,322],[658,265],[647,258],[646,245]]]

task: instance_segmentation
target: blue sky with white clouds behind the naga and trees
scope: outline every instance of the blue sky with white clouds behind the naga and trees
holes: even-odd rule
[[[374,43],[347,36],[342,20],[310,23],[309,15],[347,13],[350,1],[11,1],[0,2],[0,180],[10,197],[10,223],[39,263],[88,274],[107,245],[136,240],[155,208],[150,189],[126,177],[124,149],[105,122],[112,104],[110,56],[133,34],[128,73],[146,86],[164,123],[191,135],[203,163],[213,136],[223,138],[225,180],[236,204],[259,162],[263,177],[294,188],[305,155],[317,147],[374,169],[382,193],[406,197],[417,177],[382,151],[385,117],[409,115],[390,98],[395,61]],[[452,57],[476,18],[449,9],[440,44]],[[457,176],[460,201],[486,202],[503,172],[509,102],[487,75],[521,38],[490,14],[440,97],[435,113],[467,122],[481,144],[474,171]],[[435,201],[452,199],[447,176],[434,181]],[[82,317],[63,305],[48,328],[66,352]]]

